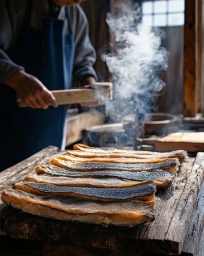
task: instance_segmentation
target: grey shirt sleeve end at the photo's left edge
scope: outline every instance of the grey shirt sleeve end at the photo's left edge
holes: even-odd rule
[[[24,70],[23,67],[16,65],[5,51],[0,49],[0,82],[2,82],[6,77],[10,76],[12,73]]]

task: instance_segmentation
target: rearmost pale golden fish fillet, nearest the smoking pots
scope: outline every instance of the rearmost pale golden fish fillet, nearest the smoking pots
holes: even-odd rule
[[[139,150],[121,150],[117,148],[111,148],[111,149],[102,149],[99,147],[89,147],[85,144],[75,144],[74,145],[74,151],[84,151],[90,154],[96,153],[96,154],[114,154],[116,155],[125,155],[125,157],[135,157],[135,155],[141,155],[141,158],[143,158],[142,155],[152,155],[157,158],[178,158],[180,163],[183,163],[185,159],[188,157],[187,151],[185,150],[175,150],[171,152],[155,152],[155,151],[139,151]],[[74,152],[73,152],[74,154]],[[129,156],[128,156],[129,155]],[[81,156],[82,157],[82,156]]]

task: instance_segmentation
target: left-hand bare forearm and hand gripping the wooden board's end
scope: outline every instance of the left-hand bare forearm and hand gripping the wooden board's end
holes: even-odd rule
[[[20,70],[12,73],[5,80],[16,91],[18,100],[30,108],[48,109],[49,105],[57,107],[56,98],[35,76]]]

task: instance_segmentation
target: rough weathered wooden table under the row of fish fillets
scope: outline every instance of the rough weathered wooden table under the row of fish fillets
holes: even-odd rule
[[[59,153],[56,147],[50,146],[1,172],[0,191],[22,180],[37,163],[47,162],[50,156]],[[173,186],[158,192],[156,219],[151,224],[120,228],[62,222],[25,214],[0,202],[0,235],[39,241],[43,253],[31,254],[30,251],[29,255],[140,256],[180,254],[183,251],[183,255],[196,256],[204,221],[203,187],[196,203],[203,180],[203,164],[204,152],[182,164]]]

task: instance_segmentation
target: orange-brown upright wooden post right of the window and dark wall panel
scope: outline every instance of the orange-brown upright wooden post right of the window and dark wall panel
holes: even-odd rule
[[[183,114],[194,117],[197,113],[196,72],[196,6],[198,0],[185,0],[184,25],[184,88]]]

